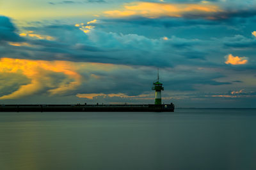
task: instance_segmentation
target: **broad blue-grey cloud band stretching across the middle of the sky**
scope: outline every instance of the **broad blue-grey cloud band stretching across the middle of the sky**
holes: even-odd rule
[[[176,36],[147,38],[138,34],[105,32],[97,29],[100,24],[95,26],[96,29],[90,30],[87,34],[74,25],[27,27],[25,29],[52,36],[54,40],[27,38],[26,41],[32,46],[9,45],[3,49],[3,53],[4,56],[13,58],[19,56],[29,59],[33,57],[33,59],[43,60],[61,59],[131,66],[175,67],[184,64],[202,67],[206,64],[222,67],[225,62],[223,57],[230,53],[230,51],[225,52],[226,46],[231,46],[237,41],[253,42],[255,39],[244,36],[216,38],[211,41]],[[220,46],[218,47],[220,50],[212,50],[212,46]],[[210,52],[211,55],[209,55]],[[217,62],[210,62],[210,57],[214,57]],[[243,69],[245,67],[248,66],[243,66]]]

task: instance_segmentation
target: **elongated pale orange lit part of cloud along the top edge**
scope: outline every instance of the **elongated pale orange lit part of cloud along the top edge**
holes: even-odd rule
[[[124,6],[124,10],[105,11],[108,17],[142,16],[147,18],[183,17],[186,13],[216,13],[222,11],[212,4],[171,4],[136,2]]]

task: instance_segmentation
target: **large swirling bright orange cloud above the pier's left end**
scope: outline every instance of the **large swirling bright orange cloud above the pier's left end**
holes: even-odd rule
[[[22,73],[31,80],[27,85],[21,85],[11,94],[1,96],[0,99],[17,99],[35,94],[43,89],[50,89],[50,94],[62,94],[74,90],[81,84],[81,75],[76,72],[76,66],[67,61],[45,61],[9,59],[0,60],[0,73]],[[52,80],[52,73],[61,73],[67,76],[59,83]],[[54,79],[54,78],[53,78]]]

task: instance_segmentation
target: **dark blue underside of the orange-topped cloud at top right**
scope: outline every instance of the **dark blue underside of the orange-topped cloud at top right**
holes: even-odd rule
[[[159,1],[152,1],[159,3]],[[170,4],[175,5],[179,3],[185,4],[200,4],[202,6],[207,6],[209,4],[214,5],[218,8],[217,11],[213,12],[202,12],[202,11],[188,11],[180,14],[179,17],[172,17],[166,11],[166,14],[159,12],[161,15],[157,15],[157,11],[152,11],[150,9],[147,15],[143,15],[143,10],[140,11],[140,6],[138,9],[135,8],[134,12],[137,15],[115,17],[115,15],[108,17],[106,22],[113,23],[126,23],[132,25],[150,25],[152,27],[182,27],[191,25],[236,25],[246,22],[247,18],[253,18],[256,16],[256,5],[255,1],[208,1],[211,3],[202,4],[202,1],[164,1],[164,3],[159,4]],[[131,6],[133,4],[131,3]],[[129,6],[129,4],[127,5]],[[136,4],[134,4],[136,6]],[[138,11],[136,11],[138,10]],[[161,10],[161,9],[160,9]],[[123,10],[120,10],[121,12]],[[132,11],[132,9],[131,9]],[[115,10],[113,10],[115,13]],[[142,13],[142,14],[141,14]],[[156,16],[155,16],[156,15]],[[144,16],[144,17],[143,17]],[[240,25],[236,25],[240,26]]]

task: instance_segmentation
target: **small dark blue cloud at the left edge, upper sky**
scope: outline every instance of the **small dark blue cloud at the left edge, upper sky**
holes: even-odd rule
[[[0,16],[0,43],[1,41],[22,41],[23,39],[16,33],[16,28],[10,18]]]

